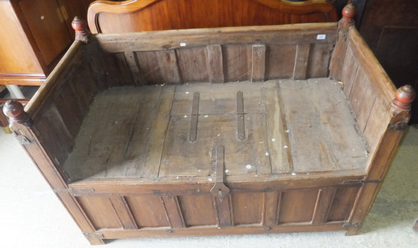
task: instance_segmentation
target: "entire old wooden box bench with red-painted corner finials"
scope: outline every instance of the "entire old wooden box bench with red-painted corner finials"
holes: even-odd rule
[[[92,244],[353,235],[389,169],[414,93],[396,91],[349,17],[77,33],[26,108],[8,102],[6,115]]]

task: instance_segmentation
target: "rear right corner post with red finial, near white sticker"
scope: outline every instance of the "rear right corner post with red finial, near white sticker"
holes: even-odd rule
[[[343,17],[338,22],[338,36],[330,63],[330,77],[337,80],[341,80],[341,72],[347,50],[347,32],[350,27],[354,26],[355,6],[353,3],[348,3],[343,8],[342,14]]]

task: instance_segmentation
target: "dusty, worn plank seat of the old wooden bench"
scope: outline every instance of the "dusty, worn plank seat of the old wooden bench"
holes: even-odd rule
[[[109,88],[74,143],[64,166],[73,181],[213,180],[218,145],[229,176],[363,169],[367,160],[349,102],[330,79]]]

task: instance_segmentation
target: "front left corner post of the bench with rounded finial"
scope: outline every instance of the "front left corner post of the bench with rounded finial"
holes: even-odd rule
[[[102,238],[98,238],[100,235],[96,235],[95,228],[82,207],[79,206],[75,197],[68,191],[63,171],[57,169],[47,151],[42,147],[38,137],[36,137],[36,127],[33,125],[31,116],[24,111],[22,103],[8,100],[4,104],[3,112],[8,116],[10,128],[16,138],[29,157],[31,157],[33,163],[38,167],[42,176],[47,180],[49,186],[54,189],[56,196],[67,208],[72,218],[75,219],[75,222],[82,229],[91,245],[104,244]]]

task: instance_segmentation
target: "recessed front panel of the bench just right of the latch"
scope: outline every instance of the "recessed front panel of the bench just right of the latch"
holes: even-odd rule
[[[263,193],[232,194],[234,225],[261,224],[263,219]]]

